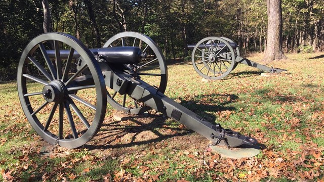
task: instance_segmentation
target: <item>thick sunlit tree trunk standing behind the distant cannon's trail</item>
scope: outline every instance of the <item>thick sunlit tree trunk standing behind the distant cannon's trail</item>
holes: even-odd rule
[[[263,61],[287,59],[282,51],[282,12],[281,0],[267,0],[268,33],[267,49]]]

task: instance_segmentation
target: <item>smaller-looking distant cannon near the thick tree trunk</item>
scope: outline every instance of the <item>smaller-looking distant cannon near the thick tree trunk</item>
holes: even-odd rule
[[[237,43],[226,37],[206,37],[197,44],[189,44],[194,70],[211,80],[222,79],[241,63],[268,73],[280,73],[285,69],[270,68],[240,56]]]

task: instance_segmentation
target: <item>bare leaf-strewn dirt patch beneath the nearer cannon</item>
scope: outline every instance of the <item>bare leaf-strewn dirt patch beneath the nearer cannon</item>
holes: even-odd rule
[[[113,158],[148,148],[153,148],[157,153],[165,148],[181,151],[202,151],[208,148],[210,142],[204,136],[180,123],[174,124],[174,121],[167,120],[168,117],[153,110],[140,115],[114,111],[105,118],[100,131],[83,148],[102,157]],[[69,153],[66,148],[53,147],[44,141],[41,145],[44,155],[62,154],[63,151],[63,155]]]

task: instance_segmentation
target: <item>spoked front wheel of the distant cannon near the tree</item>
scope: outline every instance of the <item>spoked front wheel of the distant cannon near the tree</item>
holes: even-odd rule
[[[216,80],[224,78],[233,70],[235,53],[226,40],[207,37],[195,45],[191,61],[200,76]]]

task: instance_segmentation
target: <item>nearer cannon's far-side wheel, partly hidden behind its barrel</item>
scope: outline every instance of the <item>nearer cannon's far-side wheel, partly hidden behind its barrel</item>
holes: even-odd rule
[[[168,71],[165,58],[157,44],[148,36],[138,32],[121,32],[112,36],[105,44],[106,47],[139,47],[147,55],[138,65],[125,65],[128,73],[132,73],[132,68],[137,68],[139,78],[150,85],[157,86],[159,92],[164,93],[167,87]],[[107,87],[107,101],[117,110],[126,113],[139,114],[149,109],[148,106],[141,106],[141,103],[132,99],[127,94],[120,95]]]

